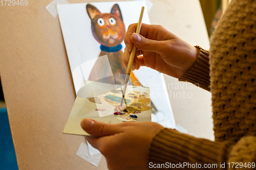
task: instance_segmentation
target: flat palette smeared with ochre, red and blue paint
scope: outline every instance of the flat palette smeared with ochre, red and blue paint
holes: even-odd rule
[[[104,123],[151,122],[150,89],[128,86],[122,99],[121,85],[83,81],[63,133],[89,135],[80,126],[82,118]]]

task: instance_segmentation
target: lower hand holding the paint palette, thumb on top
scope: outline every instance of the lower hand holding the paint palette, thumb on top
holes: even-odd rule
[[[106,124],[88,118],[81,120],[81,127],[92,135],[88,142],[105,156],[110,170],[148,169],[151,141],[164,129],[153,122]]]

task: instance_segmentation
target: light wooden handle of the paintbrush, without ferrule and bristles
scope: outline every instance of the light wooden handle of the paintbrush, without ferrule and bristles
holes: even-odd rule
[[[145,7],[141,8],[140,19],[139,19],[139,22],[138,22],[138,25],[137,25],[137,29],[136,29],[136,33],[137,34],[140,33],[140,28],[141,28],[142,18],[143,18],[143,14],[144,14],[144,9],[145,9]],[[130,56],[130,59],[129,59],[129,63],[128,63],[128,66],[127,66],[127,69],[126,69],[126,74],[127,75],[131,74],[132,67],[133,67],[133,61],[134,61],[134,56],[135,56],[135,53],[136,53],[136,49],[137,49],[136,46],[133,45],[133,50],[132,50],[132,53],[131,53],[131,56]]]

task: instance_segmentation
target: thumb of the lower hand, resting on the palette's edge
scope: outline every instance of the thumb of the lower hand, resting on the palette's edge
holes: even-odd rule
[[[84,131],[95,137],[119,133],[117,125],[106,124],[89,118],[81,120],[81,127]]]

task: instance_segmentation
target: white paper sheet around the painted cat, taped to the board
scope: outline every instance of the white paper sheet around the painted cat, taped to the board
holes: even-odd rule
[[[138,22],[142,6],[152,6],[152,4],[148,2],[146,5],[144,1],[90,4],[95,6],[101,13],[110,13],[113,5],[118,4],[122,13],[125,30],[127,30],[132,23]],[[82,81],[88,80],[92,65],[96,62],[101,52],[99,48],[100,43],[96,41],[92,34],[91,19],[88,16],[86,5],[87,4],[84,3],[57,6],[76,93]],[[150,19],[146,11],[144,12],[142,22],[150,24]],[[123,41],[121,44],[123,51],[125,44]],[[156,88],[151,90],[152,95],[158,94],[155,95],[156,97],[152,98],[152,102],[158,110],[156,114],[152,114],[153,122],[157,122],[167,128],[175,128],[174,116],[162,74],[146,67],[135,70],[134,74],[138,78],[138,81],[146,87],[153,87],[156,83],[159,84]]]

